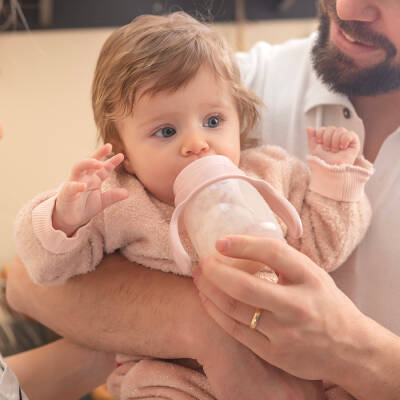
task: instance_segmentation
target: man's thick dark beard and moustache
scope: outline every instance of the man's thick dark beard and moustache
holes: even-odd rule
[[[319,36],[312,49],[312,61],[317,75],[333,91],[347,96],[375,96],[400,88],[400,63],[394,63],[396,47],[389,39],[371,32],[360,21],[342,21],[337,17],[335,1],[326,1],[331,15],[336,16],[339,28],[355,39],[385,51],[385,60],[374,67],[358,67],[329,41],[330,19],[328,12],[319,7]]]

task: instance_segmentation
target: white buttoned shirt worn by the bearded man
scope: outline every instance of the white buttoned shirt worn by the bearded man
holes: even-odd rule
[[[364,125],[346,96],[318,79],[311,63],[316,35],[271,46],[257,43],[239,53],[242,79],[265,103],[250,137],[305,159],[306,127],[344,126],[364,142]],[[363,313],[400,335],[400,127],[383,143],[367,184],[373,208],[368,233],[332,275]]]

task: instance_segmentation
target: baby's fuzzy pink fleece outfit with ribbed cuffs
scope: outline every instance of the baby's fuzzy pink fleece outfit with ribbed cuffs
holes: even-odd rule
[[[240,162],[248,175],[268,181],[297,209],[304,234],[297,240],[288,237],[288,243],[322,268],[332,271],[346,260],[367,230],[371,209],[364,186],[373,168],[362,157],[355,165],[331,166],[310,156],[308,166],[275,146],[245,150]],[[114,173],[103,184],[104,190],[113,187],[125,187],[129,198],[107,208],[70,238],[52,227],[57,191],[40,194],[20,211],[15,222],[16,249],[34,282],[62,284],[77,274],[93,271],[104,253],[116,250],[130,261],[179,273],[168,245],[173,207],[156,199],[127,173]],[[282,230],[285,234],[283,224]],[[183,244],[195,262],[196,255],[189,240],[184,238]],[[142,367],[137,360],[131,360],[133,369]],[[155,361],[146,360],[146,363],[151,362]],[[173,381],[170,384],[174,393],[179,390],[179,382],[188,382],[189,378],[183,378],[180,372],[171,378],[172,372],[182,367],[174,369],[170,363],[157,363],[158,373],[152,376],[160,377],[160,387],[168,387],[164,381],[167,376]],[[134,371],[124,373],[126,379],[122,379],[117,371],[109,379],[114,394],[123,399],[137,398],[132,390],[138,382],[131,379],[137,374]],[[139,376],[143,376],[140,371]],[[196,385],[200,385],[205,398],[212,397],[204,376],[192,370],[185,374],[191,375]],[[150,381],[150,387],[157,386],[153,378]],[[182,399],[193,398],[184,394],[183,386],[181,390]],[[138,392],[138,396],[142,394]],[[178,397],[175,393],[171,398]]]

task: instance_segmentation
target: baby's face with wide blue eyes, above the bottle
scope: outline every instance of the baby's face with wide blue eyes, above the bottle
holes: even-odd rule
[[[238,165],[240,122],[226,83],[200,69],[176,91],[138,96],[133,115],[117,122],[125,169],[158,199],[173,204],[173,183],[189,163],[213,154]]]

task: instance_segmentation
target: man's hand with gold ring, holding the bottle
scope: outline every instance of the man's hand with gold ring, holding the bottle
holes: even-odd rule
[[[208,314],[261,358],[288,373],[336,381],[344,373],[343,361],[353,357],[354,362],[358,356],[366,318],[332,278],[281,240],[231,236],[217,242],[217,249],[229,257],[268,265],[280,282],[261,280],[229,267],[221,258],[206,257],[194,276]],[[261,318],[251,329],[257,308]]]

